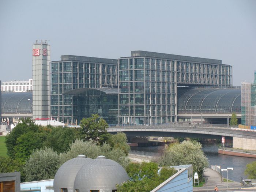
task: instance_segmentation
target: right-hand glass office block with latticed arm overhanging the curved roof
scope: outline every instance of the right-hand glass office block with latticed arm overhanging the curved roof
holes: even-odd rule
[[[177,121],[177,86],[230,87],[232,68],[221,60],[132,51],[118,59],[119,124]]]

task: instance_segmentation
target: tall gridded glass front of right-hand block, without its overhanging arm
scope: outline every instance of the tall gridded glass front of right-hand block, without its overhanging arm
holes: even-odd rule
[[[174,62],[135,57],[120,59],[119,63],[119,123],[174,121],[175,71],[171,70],[174,69],[171,65]]]

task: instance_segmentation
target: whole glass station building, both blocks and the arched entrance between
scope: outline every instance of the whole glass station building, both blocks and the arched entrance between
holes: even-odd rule
[[[232,67],[221,60],[132,51],[103,59],[61,56],[52,61],[51,116],[76,124],[93,113],[109,124],[177,121],[177,86],[230,87]]]

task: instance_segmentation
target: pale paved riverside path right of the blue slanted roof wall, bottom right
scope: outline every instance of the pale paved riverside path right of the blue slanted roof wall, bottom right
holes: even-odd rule
[[[222,178],[221,175],[210,169],[207,168],[204,171],[204,177],[207,178],[207,182],[205,182],[203,187],[194,187],[193,191],[213,191],[214,187],[217,185],[220,191],[227,189],[227,183],[221,182]],[[239,182],[229,182],[228,183],[228,189],[240,189],[242,185]]]

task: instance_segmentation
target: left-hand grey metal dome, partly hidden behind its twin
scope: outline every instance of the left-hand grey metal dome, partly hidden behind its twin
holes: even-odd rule
[[[67,188],[68,191],[74,191],[74,181],[76,174],[81,169],[81,167],[93,159],[86,157],[85,155],[78,155],[74,159],[69,159],[60,168],[55,174],[53,187],[54,192],[59,192],[60,188]]]

